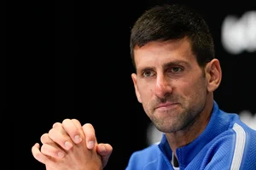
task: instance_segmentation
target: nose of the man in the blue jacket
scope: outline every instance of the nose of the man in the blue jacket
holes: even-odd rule
[[[160,99],[163,99],[166,94],[172,94],[171,80],[164,75],[158,76],[155,82],[154,94]]]

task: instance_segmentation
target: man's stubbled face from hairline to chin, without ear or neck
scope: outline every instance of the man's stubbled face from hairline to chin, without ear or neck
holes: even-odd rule
[[[137,99],[155,127],[173,133],[194,122],[206,103],[207,80],[189,40],[149,42],[134,56]]]

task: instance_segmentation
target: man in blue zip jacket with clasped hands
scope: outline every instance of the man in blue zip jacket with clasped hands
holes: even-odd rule
[[[163,136],[133,153],[126,170],[256,169],[255,130],[213,99],[222,71],[200,15],[177,4],[149,9],[131,30],[131,59],[137,100]],[[113,150],[97,144],[90,124],[69,119],[41,142],[32,153],[48,169],[102,169]]]

